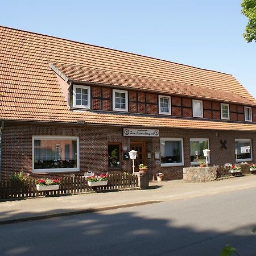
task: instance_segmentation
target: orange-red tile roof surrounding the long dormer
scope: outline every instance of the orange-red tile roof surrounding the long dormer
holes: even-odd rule
[[[224,73],[13,28],[0,27],[0,37],[2,119],[56,122],[83,119],[91,124],[256,130],[253,123],[71,111],[49,63],[73,80],[251,106],[256,106],[256,101],[233,76]]]

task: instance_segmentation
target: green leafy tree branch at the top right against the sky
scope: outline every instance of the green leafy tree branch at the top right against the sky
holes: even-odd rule
[[[243,0],[241,6],[242,14],[249,19],[243,37],[248,43],[256,42],[256,0]]]

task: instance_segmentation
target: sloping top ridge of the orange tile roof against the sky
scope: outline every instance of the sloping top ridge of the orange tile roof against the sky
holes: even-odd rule
[[[27,33],[35,34],[35,35],[47,36],[47,37],[49,37],[49,38],[56,38],[56,39],[66,40],[66,41],[73,42],[73,43],[84,44],[84,45],[86,45],[86,46],[93,46],[93,47],[98,47],[98,48],[103,48],[103,49],[109,49],[109,50],[111,50],[111,51],[127,53],[127,54],[131,54],[131,55],[136,55],[136,56],[144,57],[144,58],[147,58],[147,59],[164,61],[164,62],[166,62],[166,63],[173,63],[173,64],[177,64],[177,65],[182,65],[182,66],[184,66],[184,67],[190,67],[190,68],[200,69],[200,70],[203,70],[203,71],[209,71],[209,72],[214,72],[214,73],[220,73],[220,74],[223,74],[223,75],[228,75],[228,76],[234,77],[232,74],[229,74],[229,73],[224,73],[224,72],[220,72],[220,71],[215,71],[215,70],[212,70],[212,69],[199,68],[199,67],[195,67],[195,66],[192,66],[192,65],[187,65],[187,64],[182,64],[182,63],[177,63],[177,62],[174,62],[174,61],[170,61],[170,60],[160,59],[160,58],[157,58],[157,57],[151,57],[151,56],[141,55],[141,54],[139,54],[139,53],[127,52],[127,51],[122,51],[122,50],[119,50],[119,49],[108,48],[108,47],[104,47],[104,46],[97,46],[96,44],[82,43],[82,42],[75,41],[75,40],[71,40],[71,39],[59,38],[59,37],[57,37],[57,36],[51,36],[51,35],[41,34],[41,33],[38,33],[38,32],[32,32],[32,31],[28,31],[28,30],[21,30],[21,29],[18,29],[18,28],[12,28],[12,27],[6,27],[6,26],[0,26],[0,27],[2,27],[2,28],[8,28],[8,29],[10,29],[10,30],[16,30],[16,31],[27,32]]]

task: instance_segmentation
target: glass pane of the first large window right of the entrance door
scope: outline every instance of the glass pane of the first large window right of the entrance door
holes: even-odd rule
[[[181,141],[160,141],[161,163],[182,163]]]

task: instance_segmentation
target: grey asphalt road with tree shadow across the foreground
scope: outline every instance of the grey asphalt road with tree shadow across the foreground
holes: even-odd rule
[[[159,199],[160,200],[160,199]],[[0,255],[256,254],[256,189],[0,226]]]

